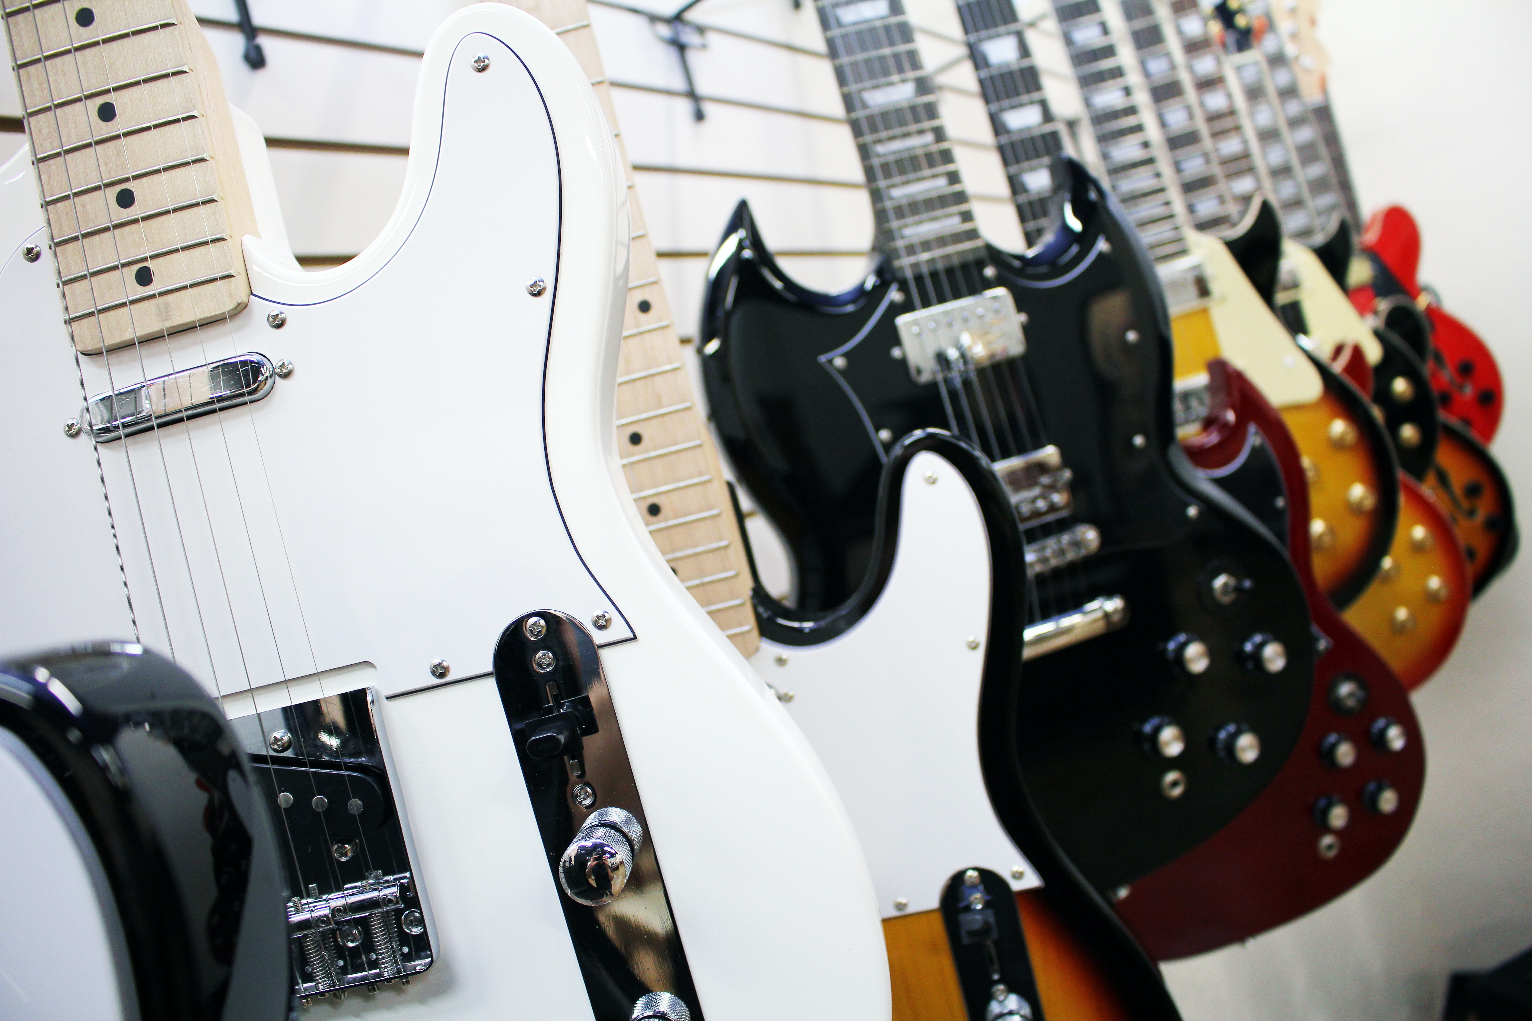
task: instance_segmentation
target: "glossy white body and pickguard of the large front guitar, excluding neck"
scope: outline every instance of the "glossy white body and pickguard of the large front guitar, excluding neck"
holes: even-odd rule
[[[400,207],[355,260],[305,274],[247,237],[247,309],[78,360],[54,268],[18,254],[47,245],[28,152],[9,164],[3,358],[31,383],[3,426],[51,504],[6,528],[0,560],[17,585],[0,644],[138,634],[231,715],[371,687],[435,957],[408,989],[380,987],[348,1013],[608,1021],[663,978],[625,957],[651,944],[614,941],[611,984],[587,986],[574,902],[495,677],[507,625],[562,611],[601,646],[631,767],[627,787],[597,779],[590,802],[571,796],[562,811],[581,819],[642,793],[691,1007],[761,1018],[786,997],[810,1016],[887,1018],[878,914],[844,808],[663,563],[624,484],[613,389],[628,219],[585,77],[529,15],[460,11],[424,55],[411,150]],[[268,175],[251,156],[247,176]],[[60,429],[81,389],[241,352],[293,370],[248,404],[126,438]],[[80,612],[60,612],[70,605]],[[719,854],[720,833],[734,853]]]

